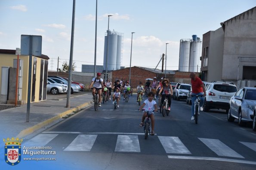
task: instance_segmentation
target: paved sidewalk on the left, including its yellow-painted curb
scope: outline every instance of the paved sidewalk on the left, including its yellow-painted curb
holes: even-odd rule
[[[25,139],[35,131],[42,131],[62,120],[62,117],[77,112],[84,107],[93,104],[91,92],[77,94],[70,99],[70,107],[67,108],[67,95],[51,100],[40,101],[30,104],[29,122],[26,122],[27,104],[6,110],[0,110],[0,136],[2,138],[19,137]]]

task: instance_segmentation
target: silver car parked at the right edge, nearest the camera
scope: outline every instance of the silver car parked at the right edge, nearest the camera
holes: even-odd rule
[[[230,98],[229,105],[228,105],[229,107],[228,121],[234,122],[234,119],[238,119],[239,126],[244,125],[245,122],[253,122],[253,120],[255,119],[255,105],[256,105],[256,88],[255,87],[240,88],[235,93],[235,95]],[[254,124],[255,124],[255,121],[254,121]]]

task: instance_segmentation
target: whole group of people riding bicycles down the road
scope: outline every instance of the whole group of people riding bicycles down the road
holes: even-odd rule
[[[192,86],[192,103],[193,101],[195,101],[195,96],[197,94],[204,94],[206,95],[205,92],[205,88],[204,88],[204,84],[203,82],[200,80],[200,78],[196,77],[195,73],[191,73],[190,74],[190,78],[191,78],[191,86]],[[103,83],[104,82],[104,83]],[[149,79],[145,82],[144,87],[142,86],[142,82],[139,83],[139,86],[137,86],[136,88],[136,92],[137,92],[137,102],[138,102],[138,98],[139,98],[139,94],[141,96],[143,96],[143,90],[148,90],[148,99],[146,99],[143,104],[140,106],[139,110],[141,110],[142,108],[145,109],[145,112],[142,115],[142,122],[140,122],[139,126],[142,127],[143,126],[143,122],[147,116],[146,111],[151,110],[151,111],[156,111],[157,112],[157,103],[156,101],[154,101],[154,99],[156,99],[157,94],[158,95],[162,95],[162,103],[165,100],[165,97],[167,97],[168,99],[168,104],[169,104],[169,108],[168,110],[170,111],[170,106],[171,106],[171,96],[173,95],[173,88],[171,86],[171,84],[169,83],[169,80],[167,78],[161,78],[161,80],[159,82],[157,82],[157,78],[154,77],[152,83],[149,81]],[[111,81],[109,80],[109,78],[107,79],[107,81],[103,81],[103,79],[101,78],[101,73],[97,73],[97,76],[95,78],[93,78],[91,84],[90,84],[90,88],[93,90],[93,99],[94,99],[94,95],[96,90],[98,90],[98,94],[99,96],[101,96],[102,90],[107,89],[109,92],[109,99],[111,99],[111,90],[114,89],[114,94],[112,95],[113,97],[113,104],[114,104],[114,100],[117,99],[117,107],[119,107],[119,101],[121,98],[121,91],[123,89],[123,97],[125,99],[126,95],[130,95],[130,92],[132,90],[132,87],[130,86],[130,82],[129,81],[120,81],[120,80],[116,80],[114,82],[114,85],[112,85]],[[101,97],[99,97],[99,107],[101,106]],[[203,109],[203,104],[204,104],[204,97],[201,97],[201,102],[200,102],[200,110]],[[160,108],[158,108],[160,109]],[[154,135],[154,112],[149,113],[151,122],[152,122],[152,131],[151,131],[151,135]],[[194,108],[193,108],[193,104],[192,104],[192,108],[191,108],[191,120],[194,120]]]

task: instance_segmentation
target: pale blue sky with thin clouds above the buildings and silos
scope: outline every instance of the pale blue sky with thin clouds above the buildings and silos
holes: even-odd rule
[[[179,41],[200,39],[220,23],[256,6],[256,0],[98,0],[97,65],[103,65],[108,29],[123,33],[121,66],[155,68],[166,51],[167,69],[179,66]],[[21,35],[42,36],[49,69],[70,58],[73,0],[0,0],[0,49],[20,48]],[[96,0],[76,0],[73,61],[94,64]],[[158,67],[160,69],[160,66]]]

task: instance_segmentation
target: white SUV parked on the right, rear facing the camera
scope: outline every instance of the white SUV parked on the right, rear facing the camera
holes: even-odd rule
[[[229,100],[236,92],[237,87],[233,83],[212,81],[206,87],[204,111],[224,109],[228,113]]]

